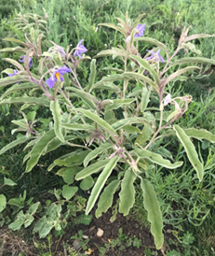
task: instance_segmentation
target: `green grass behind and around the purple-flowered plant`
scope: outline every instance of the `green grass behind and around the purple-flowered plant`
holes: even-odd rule
[[[29,34],[30,28],[34,26],[46,34],[45,46],[48,47],[50,47],[50,40],[66,47],[69,44],[75,46],[77,41],[84,38],[88,50],[87,55],[93,58],[99,51],[123,43],[123,38],[118,33],[109,28],[98,27],[98,24],[101,22],[117,23],[114,17],[124,19],[128,11],[132,20],[135,20],[139,14],[145,13],[142,19],[142,22],[146,24],[145,36],[154,37],[173,50],[184,26],[190,26],[190,34],[215,34],[214,8],[215,2],[210,0],[2,0],[0,3],[0,48],[15,46],[13,43],[4,41],[4,37],[22,39],[23,35]],[[35,16],[30,17],[29,13]],[[21,22],[20,14],[25,17],[27,23]],[[39,16],[44,22],[38,25],[34,21],[37,21]],[[215,38],[213,37],[195,40],[196,50],[200,50],[204,57],[215,58],[214,45]],[[142,52],[150,47],[147,43],[140,44]],[[7,57],[7,53],[2,54],[3,57]],[[98,60],[100,67],[98,78],[106,75],[103,67],[107,65],[113,65],[111,58]],[[0,71],[7,67],[9,67],[8,64],[0,59]],[[89,74],[88,64],[83,64],[81,67],[79,77],[85,84]],[[120,68],[120,63],[116,62],[114,67]],[[3,78],[5,75],[1,76]],[[193,95],[193,103],[189,106],[185,116],[179,120],[181,126],[204,128],[215,134],[214,80],[214,67],[201,66],[200,74],[196,75],[194,72],[186,81],[177,82],[174,87],[168,88],[172,95],[179,93]],[[4,90],[0,88],[0,94],[3,92]],[[44,112],[44,109],[39,107],[36,110],[41,120],[48,118],[48,111]],[[15,128],[11,121],[19,117],[21,118],[19,108],[15,105],[0,106],[1,149],[17,136],[11,135],[11,130]],[[205,177],[199,184],[178,142],[172,138],[167,139],[166,143],[173,151],[173,158],[176,161],[183,159],[186,163],[180,173],[163,168],[157,168],[153,173],[155,191],[159,197],[164,221],[173,225],[174,235],[177,238],[173,243],[178,248],[178,254],[173,254],[175,251],[171,250],[172,254],[168,255],[185,255],[180,254],[184,252],[184,249],[188,251],[187,256],[215,255],[215,148],[206,141],[196,143],[196,148],[199,149],[206,163]],[[24,174],[22,149],[22,147],[10,149],[0,156],[0,184],[3,184],[4,178],[10,178],[18,184],[12,188],[6,186],[2,192],[7,194],[7,198],[20,198],[21,195],[22,199],[26,192],[27,198],[23,200],[25,202],[50,200],[47,192],[58,189],[63,184],[61,178],[47,172],[48,164],[56,158],[56,155],[49,154],[38,164],[36,170],[30,174]],[[66,151],[65,148],[60,154]],[[82,193],[80,192],[80,195],[83,195]],[[47,197],[44,198],[44,196]],[[138,220],[141,225],[146,225],[145,213],[139,203],[142,201],[141,192],[137,192],[136,196],[137,200],[130,216]],[[26,204],[22,203],[20,199],[20,208],[26,207]],[[0,215],[1,226],[8,225],[15,220],[17,212],[16,206],[8,207]],[[26,237],[28,232],[31,233],[31,230],[21,231],[20,234]],[[190,234],[191,237],[195,237],[195,241],[188,239],[187,244],[184,242],[181,237],[184,238],[187,232],[188,236]],[[0,235],[0,238],[2,237]],[[3,245],[4,243],[2,247]],[[20,252],[16,251],[16,253]],[[153,253],[155,252],[150,250],[148,255],[155,255]]]

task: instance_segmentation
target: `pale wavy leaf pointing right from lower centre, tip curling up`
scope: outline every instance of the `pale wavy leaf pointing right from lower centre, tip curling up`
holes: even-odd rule
[[[176,169],[183,164],[181,161],[171,164],[169,160],[163,159],[161,155],[148,151],[146,149],[134,149],[130,153],[136,154],[140,158],[146,158],[151,162],[164,166],[168,169]]]

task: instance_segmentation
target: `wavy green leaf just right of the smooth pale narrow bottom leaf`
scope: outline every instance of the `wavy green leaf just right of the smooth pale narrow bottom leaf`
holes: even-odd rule
[[[114,192],[118,189],[120,185],[119,180],[113,180],[101,193],[100,201],[96,210],[96,218],[100,218],[102,212],[106,212],[113,204]]]

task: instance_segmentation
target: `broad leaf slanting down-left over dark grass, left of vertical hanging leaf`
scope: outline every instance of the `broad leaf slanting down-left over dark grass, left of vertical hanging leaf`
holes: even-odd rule
[[[34,145],[34,148],[31,151],[31,157],[25,169],[26,173],[31,172],[35,164],[37,164],[37,162],[39,161],[39,158],[43,150],[47,147],[47,144],[49,143],[49,141],[52,140],[54,137],[55,137],[54,130],[50,130],[37,141],[37,143]]]

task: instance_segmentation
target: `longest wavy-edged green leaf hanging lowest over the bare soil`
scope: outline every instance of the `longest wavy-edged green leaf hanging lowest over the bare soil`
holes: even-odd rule
[[[143,206],[148,212],[148,220],[151,222],[151,233],[155,238],[155,247],[156,249],[161,249],[164,244],[164,235],[162,234],[163,220],[155,190],[152,184],[145,178],[141,179],[141,190]]]

